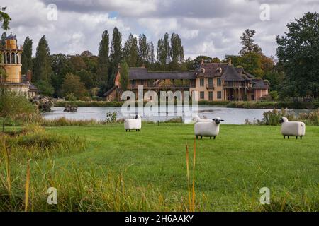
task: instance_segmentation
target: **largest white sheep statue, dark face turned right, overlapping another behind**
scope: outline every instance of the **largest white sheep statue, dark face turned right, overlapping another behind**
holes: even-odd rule
[[[203,136],[208,136],[210,139],[213,137],[215,140],[216,136],[218,136],[219,133],[220,121],[224,120],[220,119],[220,117],[216,117],[214,119],[211,119],[209,122],[197,122],[194,125],[196,139],[198,139],[198,136],[200,136],[201,139],[203,139]]]

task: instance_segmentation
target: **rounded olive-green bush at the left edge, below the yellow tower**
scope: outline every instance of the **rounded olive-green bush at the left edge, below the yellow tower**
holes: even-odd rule
[[[21,93],[16,93],[4,87],[0,88],[0,117],[2,118],[2,132],[7,119],[15,119],[21,114],[34,114],[35,106]]]

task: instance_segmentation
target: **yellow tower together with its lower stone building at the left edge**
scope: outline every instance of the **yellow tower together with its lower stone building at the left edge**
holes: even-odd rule
[[[23,47],[17,44],[16,35],[12,33],[6,37],[6,44],[0,47],[0,85],[4,85],[10,90],[23,93],[28,97],[36,94],[36,88],[31,83],[31,71],[26,75],[21,74],[21,54]]]

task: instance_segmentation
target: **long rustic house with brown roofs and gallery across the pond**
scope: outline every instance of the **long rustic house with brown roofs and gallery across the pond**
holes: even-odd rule
[[[104,94],[106,100],[121,100],[121,73],[116,74],[115,85]],[[195,71],[147,71],[145,67],[130,68],[128,90],[135,92],[143,85],[144,92],[184,91],[198,92],[198,100],[239,101],[259,100],[268,94],[269,84],[228,63],[203,63]]]

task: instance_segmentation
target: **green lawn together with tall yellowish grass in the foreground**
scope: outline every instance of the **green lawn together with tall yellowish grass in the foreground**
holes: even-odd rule
[[[1,210],[24,209],[29,159],[28,210],[188,210],[185,144],[192,153],[194,125],[143,124],[140,132],[125,132],[123,124],[59,126],[46,133],[83,138],[86,149],[11,162],[11,195],[1,150]],[[318,211],[318,143],[318,126],[307,126],[303,140],[284,140],[279,126],[221,125],[215,141],[196,142],[196,210]],[[46,203],[50,186],[57,206]],[[270,206],[259,203],[264,186]]]

